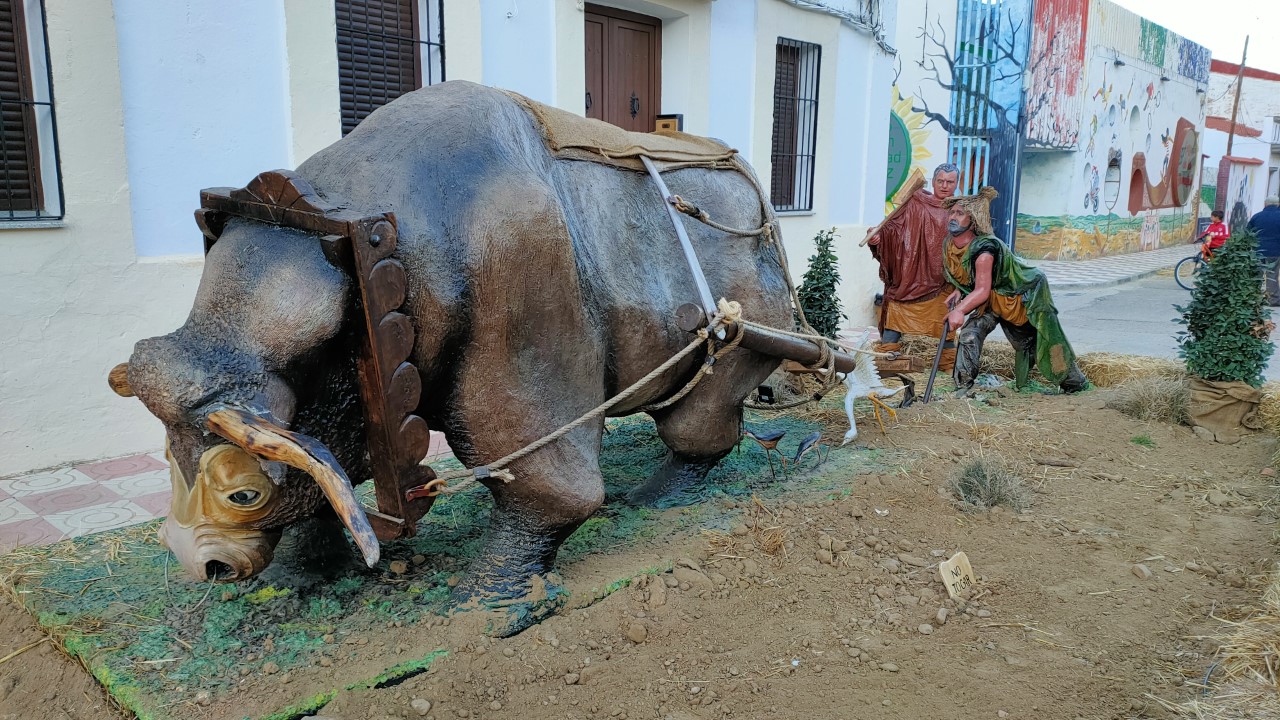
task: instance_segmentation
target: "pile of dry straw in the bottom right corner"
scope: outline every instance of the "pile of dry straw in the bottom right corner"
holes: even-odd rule
[[[1280,575],[1253,616],[1233,623],[1221,642],[1203,697],[1169,705],[1180,717],[1280,717]]]

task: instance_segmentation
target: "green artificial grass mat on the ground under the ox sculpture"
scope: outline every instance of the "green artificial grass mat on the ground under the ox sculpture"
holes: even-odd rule
[[[748,413],[746,427],[787,430],[780,445],[787,455],[820,429],[810,419],[754,413]],[[607,597],[646,570],[618,566],[598,587],[579,587],[576,561],[646,539],[659,543],[675,532],[727,525],[728,503],[709,501],[842,495],[858,474],[909,462],[900,451],[836,447],[826,461],[810,454],[788,475],[778,471],[774,478],[763,450],[744,441],[712,471],[700,497],[684,498],[696,503],[663,511],[623,498],[666,456],[653,423],[643,415],[611,420],[603,445],[605,505],[559,553],[559,566],[568,568],[572,607]],[[451,459],[436,468],[451,465],[458,466]],[[371,506],[369,486],[361,492]],[[196,583],[159,543],[159,521],[152,521],[18,548],[0,556],[0,580],[138,717],[285,720],[314,715],[339,689],[381,687],[421,673],[448,651],[438,647],[439,630],[433,628],[447,621],[449,580],[477,553],[490,509],[492,497],[479,486],[440,497],[417,537],[385,544],[374,569],[343,547],[338,560],[305,570],[305,533],[287,532],[275,562],[260,577]],[[404,561],[406,570],[392,573],[393,561]]]

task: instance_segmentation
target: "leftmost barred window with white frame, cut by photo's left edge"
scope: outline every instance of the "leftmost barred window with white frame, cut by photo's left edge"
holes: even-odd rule
[[[0,225],[63,218],[44,0],[0,0]]]

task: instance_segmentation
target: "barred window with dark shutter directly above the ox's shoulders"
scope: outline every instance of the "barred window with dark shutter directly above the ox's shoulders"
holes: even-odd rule
[[[337,0],[342,135],[406,92],[444,82],[444,0]]]

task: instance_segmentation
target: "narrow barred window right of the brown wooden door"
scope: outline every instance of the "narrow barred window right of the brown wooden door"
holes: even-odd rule
[[[773,79],[773,209],[813,210],[822,46],[780,37]]]

